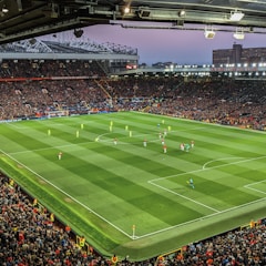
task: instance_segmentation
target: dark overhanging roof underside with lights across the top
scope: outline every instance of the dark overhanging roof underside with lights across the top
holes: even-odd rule
[[[79,38],[80,28],[127,20],[171,22],[182,29],[191,23],[233,25],[265,33],[266,1],[0,0],[0,44],[71,29]]]

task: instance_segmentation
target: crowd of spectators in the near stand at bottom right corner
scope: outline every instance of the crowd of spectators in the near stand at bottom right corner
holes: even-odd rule
[[[265,221],[184,247],[175,265],[266,265]]]

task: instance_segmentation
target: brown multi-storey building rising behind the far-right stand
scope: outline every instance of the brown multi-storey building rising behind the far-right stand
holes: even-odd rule
[[[213,51],[213,64],[238,64],[266,62],[266,48],[246,48],[242,44],[233,44],[232,49],[218,49]]]

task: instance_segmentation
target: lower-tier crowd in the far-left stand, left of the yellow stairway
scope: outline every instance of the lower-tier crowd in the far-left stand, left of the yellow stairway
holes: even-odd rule
[[[71,114],[109,111],[109,100],[94,80],[42,80],[0,83],[0,120],[32,119],[51,111]]]

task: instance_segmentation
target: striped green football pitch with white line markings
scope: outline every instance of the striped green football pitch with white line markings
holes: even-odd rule
[[[134,112],[0,132],[1,170],[106,256],[145,259],[266,214],[264,132]]]

